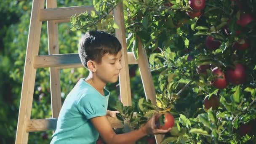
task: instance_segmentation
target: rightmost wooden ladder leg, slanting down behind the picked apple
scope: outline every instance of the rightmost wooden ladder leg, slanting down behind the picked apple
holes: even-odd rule
[[[138,58],[138,66],[139,71],[141,75],[141,80],[145,92],[146,99],[150,99],[152,104],[156,105],[156,93],[155,93],[155,86],[152,79],[152,75],[149,68],[149,61],[147,57],[147,53],[144,48],[142,48],[141,40],[139,37],[137,37],[138,40],[138,52],[139,52],[139,58]],[[157,144],[160,144],[163,141],[164,135],[155,135],[155,139],[157,141]]]

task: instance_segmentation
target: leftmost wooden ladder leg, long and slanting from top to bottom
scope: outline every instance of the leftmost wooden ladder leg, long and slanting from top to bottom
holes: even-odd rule
[[[26,121],[30,119],[32,101],[35,88],[36,69],[33,67],[34,56],[38,55],[42,21],[39,20],[40,9],[44,7],[44,0],[33,0],[24,75],[21,88],[21,101],[16,131],[16,144],[27,144],[29,133],[26,132]]]

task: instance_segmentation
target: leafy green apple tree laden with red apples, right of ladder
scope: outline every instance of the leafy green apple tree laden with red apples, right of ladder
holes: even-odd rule
[[[96,11],[72,16],[72,30],[114,33],[109,11],[118,2],[93,0]],[[254,0],[123,0],[128,49],[137,58],[142,41],[158,85],[157,106],[117,104],[118,117],[138,128],[171,113],[163,144],[256,143],[255,7]]]

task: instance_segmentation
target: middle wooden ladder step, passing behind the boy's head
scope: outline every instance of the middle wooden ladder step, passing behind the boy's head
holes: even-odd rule
[[[133,56],[133,52],[128,52],[128,64],[138,64]],[[34,68],[57,67],[59,69],[83,67],[79,54],[52,54],[39,55],[34,57]]]

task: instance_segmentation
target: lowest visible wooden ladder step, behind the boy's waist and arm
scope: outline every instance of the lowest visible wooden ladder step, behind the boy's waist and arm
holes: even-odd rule
[[[107,116],[112,128],[122,128],[123,124],[117,117]],[[27,120],[26,132],[55,131],[58,118]]]

